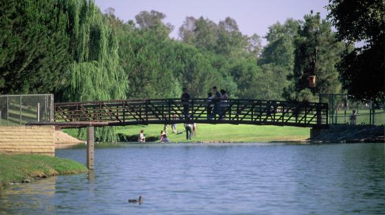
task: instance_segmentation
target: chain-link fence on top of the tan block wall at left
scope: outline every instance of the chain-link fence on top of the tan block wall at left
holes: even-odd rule
[[[54,121],[53,94],[0,95],[0,126]]]

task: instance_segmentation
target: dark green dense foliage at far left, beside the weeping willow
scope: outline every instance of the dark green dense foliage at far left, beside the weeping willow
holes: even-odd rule
[[[55,0],[0,2],[0,94],[47,93],[67,74],[67,16]]]

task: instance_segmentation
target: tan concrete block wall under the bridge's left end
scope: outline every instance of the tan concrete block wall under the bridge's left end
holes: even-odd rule
[[[0,153],[55,155],[54,126],[0,126]]]

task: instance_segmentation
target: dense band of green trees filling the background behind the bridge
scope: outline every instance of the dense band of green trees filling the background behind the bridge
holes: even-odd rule
[[[175,40],[168,36],[173,26],[164,23],[166,14],[154,10],[125,22],[113,8],[100,12],[92,0],[0,2],[2,94],[52,92],[57,101],[152,99],[180,97],[183,87],[192,97],[206,97],[218,86],[230,98],[314,100],[317,93],[342,92],[336,64],[344,43],[319,14],[274,23],[264,36],[267,45],[261,47],[261,36],[242,34],[231,17],[215,23],[188,16]],[[371,14],[360,16],[373,18],[366,36],[358,32],[360,27],[353,36],[346,36],[348,28],[337,34],[348,42],[366,41],[367,46],[347,52],[340,63],[344,88],[352,93],[366,89],[361,98],[377,97],[384,89],[375,79],[384,65],[379,46],[383,23],[378,19],[383,16],[376,13],[379,1],[373,2],[375,12],[365,10]],[[329,5],[336,17],[333,24],[341,29],[347,27],[345,20],[338,23],[342,3]],[[353,16],[344,18],[353,21]],[[368,64],[373,55],[380,57]],[[307,84],[312,62],[316,88]],[[373,79],[375,87],[357,75],[363,68],[370,70],[366,78]],[[111,129],[98,129],[96,137],[115,139]]]

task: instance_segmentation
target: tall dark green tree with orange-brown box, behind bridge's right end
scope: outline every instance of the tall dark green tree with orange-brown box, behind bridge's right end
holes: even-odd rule
[[[285,90],[287,99],[308,100],[315,93],[338,93],[340,82],[336,64],[344,44],[336,40],[331,23],[321,20],[320,14],[307,14],[294,40],[294,73],[292,86]],[[315,72],[316,87],[309,88],[309,75]],[[310,94],[311,92],[311,94]]]

